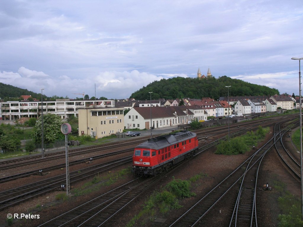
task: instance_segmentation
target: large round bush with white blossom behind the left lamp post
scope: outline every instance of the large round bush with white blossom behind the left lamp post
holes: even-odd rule
[[[59,116],[55,114],[45,114],[43,115],[43,138],[44,143],[53,143],[55,140],[64,139],[64,135],[61,132],[62,120]],[[41,116],[37,120],[33,128],[33,138],[36,143],[41,142]]]

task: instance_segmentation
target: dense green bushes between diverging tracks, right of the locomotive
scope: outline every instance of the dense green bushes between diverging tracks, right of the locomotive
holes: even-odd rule
[[[243,136],[231,138],[229,142],[228,140],[221,140],[217,145],[215,153],[225,155],[244,154],[264,140],[264,137],[268,132],[269,128],[264,129],[259,126],[256,132],[247,132]]]

